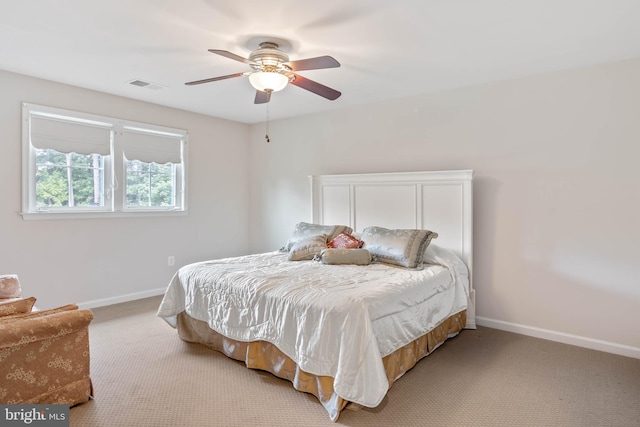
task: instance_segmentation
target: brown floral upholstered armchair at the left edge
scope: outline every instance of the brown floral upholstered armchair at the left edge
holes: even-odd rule
[[[2,282],[0,276],[0,403],[73,406],[89,400],[93,313],[75,304],[32,311],[34,297],[2,298]]]

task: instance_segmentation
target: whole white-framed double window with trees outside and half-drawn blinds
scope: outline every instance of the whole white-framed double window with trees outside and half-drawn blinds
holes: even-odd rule
[[[23,217],[186,211],[187,132],[23,104]]]

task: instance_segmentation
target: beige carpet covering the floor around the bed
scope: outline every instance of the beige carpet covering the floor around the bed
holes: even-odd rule
[[[289,382],[182,342],[159,302],[94,310],[95,400],[71,426],[640,426],[640,360],[482,327],[331,423]]]

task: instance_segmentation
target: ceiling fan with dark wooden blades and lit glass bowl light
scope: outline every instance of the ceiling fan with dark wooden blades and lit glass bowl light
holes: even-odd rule
[[[318,56],[315,58],[289,61],[289,56],[278,47],[278,44],[275,42],[262,42],[259,44],[258,49],[251,52],[249,58],[243,58],[226,50],[209,49],[211,53],[248,64],[253,71],[196,80],[185,84],[191,86],[234,77],[249,76],[249,82],[256,88],[255,104],[269,102],[271,93],[284,89],[289,83],[331,101],[338,99],[338,97],[342,95],[335,89],[331,89],[330,87],[296,74],[298,71],[339,67],[340,63],[338,61],[331,56]]]

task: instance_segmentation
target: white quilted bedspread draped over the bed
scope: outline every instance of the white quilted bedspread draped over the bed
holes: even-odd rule
[[[336,393],[376,407],[389,384],[382,357],[467,307],[466,267],[432,245],[440,265],[324,265],[269,252],[190,264],[169,284],[158,316],[186,311],[238,341],[264,340],[300,368],[334,378]]]

